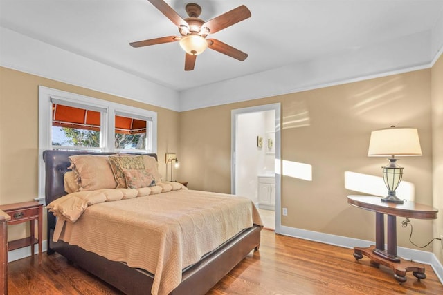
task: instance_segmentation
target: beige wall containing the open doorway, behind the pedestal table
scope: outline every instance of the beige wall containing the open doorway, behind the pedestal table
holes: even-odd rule
[[[381,176],[388,161],[368,158],[370,132],[390,125],[419,129],[423,156],[402,158],[415,200],[432,204],[431,70],[291,93],[180,113],[181,175],[192,189],[230,192],[230,111],[280,102],[282,160],[312,165],[311,182],[282,177],[282,225],[374,240],[374,213],[350,207],[345,171]],[[303,115],[305,114],[305,115]],[[309,126],[294,124],[304,117]],[[284,171],[283,171],[284,173]],[[399,218],[398,222],[401,222]],[[414,240],[426,244],[433,221],[413,220]],[[409,228],[398,229],[398,245]],[[431,251],[431,248],[426,248]]]

